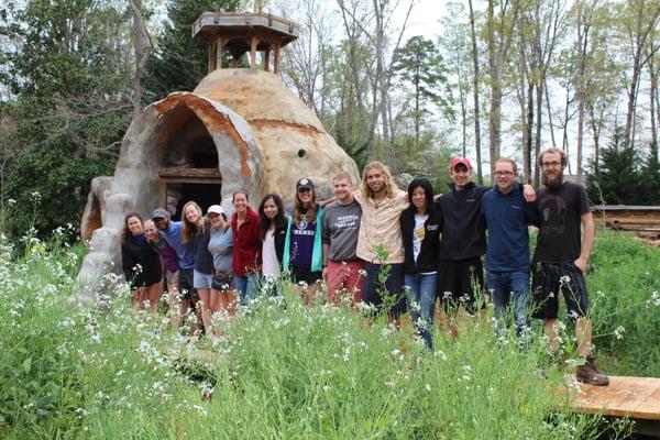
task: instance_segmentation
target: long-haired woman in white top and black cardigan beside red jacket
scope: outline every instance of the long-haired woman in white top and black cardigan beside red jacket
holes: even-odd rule
[[[262,274],[263,283],[268,292],[277,294],[276,283],[282,275],[282,261],[288,217],[284,212],[282,197],[277,194],[266,194],[258,206],[260,234],[262,245]]]

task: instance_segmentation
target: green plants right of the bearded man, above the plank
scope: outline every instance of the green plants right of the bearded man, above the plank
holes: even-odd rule
[[[660,328],[660,250],[604,231],[590,263],[594,343],[610,359],[606,371],[660,376],[660,334],[649,331]]]

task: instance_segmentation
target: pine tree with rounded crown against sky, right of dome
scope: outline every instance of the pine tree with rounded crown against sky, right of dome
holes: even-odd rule
[[[424,114],[428,113],[425,105],[433,103],[446,114],[451,116],[451,99],[440,91],[447,85],[446,67],[438,47],[432,41],[422,36],[413,36],[395,54],[393,65],[404,82],[413,87],[413,121],[415,123],[415,151],[419,150],[420,125]],[[411,152],[409,151],[408,154]]]

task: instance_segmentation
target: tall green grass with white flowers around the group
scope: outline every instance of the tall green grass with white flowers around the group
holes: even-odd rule
[[[260,300],[220,343],[133,315],[119,288],[72,301],[82,249],[0,241],[0,438],[57,439],[591,439],[625,424],[561,410],[565,377],[536,334],[496,338],[491,310],[436,334],[307,307],[285,290]],[[600,234],[590,274],[606,371],[659,375],[660,251]],[[622,330],[623,329],[623,330]],[[565,349],[571,353],[571,340]],[[204,400],[202,389],[212,388]]]

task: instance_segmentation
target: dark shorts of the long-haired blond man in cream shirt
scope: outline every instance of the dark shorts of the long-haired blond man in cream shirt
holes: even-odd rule
[[[406,296],[404,295],[404,264],[389,264],[389,275],[383,286],[378,280],[378,275],[383,270],[381,264],[366,263],[364,270],[366,278],[362,289],[362,301],[375,306],[381,311],[387,308],[387,315],[391,318],[398,318],[406,312]],[[382,293],[388,295],[382,297]]]

